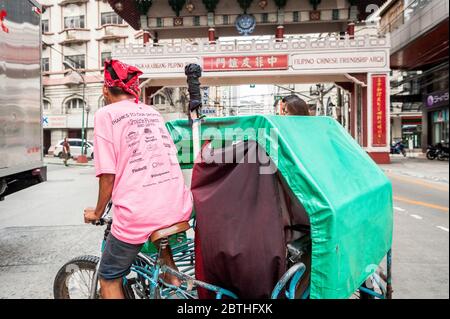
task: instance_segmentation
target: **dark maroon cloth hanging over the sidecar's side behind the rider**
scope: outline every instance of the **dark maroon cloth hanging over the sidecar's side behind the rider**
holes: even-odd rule
[[[223,163],[230,152],[234,163]],[[253,141],[202,154],[192,177],[196,277],[239,298],[269,298],[286,271],[286,227],[295,219],[283,213],[278,175],[260,174],[269,159]],[[199,297],[213,296],[200,289]]]

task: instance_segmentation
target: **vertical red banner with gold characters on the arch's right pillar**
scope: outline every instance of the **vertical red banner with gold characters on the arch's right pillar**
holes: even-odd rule
[[[387,146],[386,75],[372,76],[372,146]]]

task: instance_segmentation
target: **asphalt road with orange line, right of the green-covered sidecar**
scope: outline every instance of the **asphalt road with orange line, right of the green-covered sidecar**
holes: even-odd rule
[[[448,184],[388,176],[394,190],[394,296],[448,299]]]

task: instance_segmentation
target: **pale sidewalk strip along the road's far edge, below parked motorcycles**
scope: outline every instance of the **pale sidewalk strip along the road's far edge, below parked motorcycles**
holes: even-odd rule
[[[391,156],[391,164],[379,165],[386,173],[406,175],[430,181],[449,183],[448,161],[430,161],[425,155],[417,154],[415,157]]]

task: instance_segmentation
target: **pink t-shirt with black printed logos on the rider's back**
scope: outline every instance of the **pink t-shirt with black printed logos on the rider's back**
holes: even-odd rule
[[[151,106],[125,100],[95,114],[96,176],[115,174],[112,234],[142,244],[158,229],[189,220],[192,194],[164,119]]]

